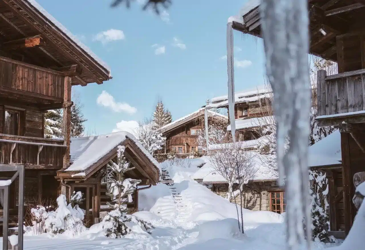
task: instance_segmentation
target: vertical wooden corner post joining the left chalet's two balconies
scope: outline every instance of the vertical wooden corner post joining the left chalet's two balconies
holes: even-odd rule
[[[71,101],[71,77],[65,76],[64,102],[70,102],[70,101]],[[64,134],[64,145],[67,146],[63,163],[63,169],[66,169],[70,166],[71,106],[64,108],[62,132]]]

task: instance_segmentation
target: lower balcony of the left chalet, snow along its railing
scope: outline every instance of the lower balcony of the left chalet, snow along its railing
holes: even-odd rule
[[[0,134],[0,164],[58,170],[65,152],[63,140]]]

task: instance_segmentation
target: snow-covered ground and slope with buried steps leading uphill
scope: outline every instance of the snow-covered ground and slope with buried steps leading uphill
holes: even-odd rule
[[[282,250],[285,244],[284,216],[266,211],[243,214],[245,235],[238,230],[235,205],[212,193],[192,179],[204,158],[161,164],[169,171],[173,186],[158,184],[139,193],[139,212],[135,216],[149,220],[151,234],[134,231],[122,239],[100,235],[97,225],[81,236],[25,236],[26,250]],[[141,211],[144,210],[144,211]],[[330,245],[312,244],[320,250]]]

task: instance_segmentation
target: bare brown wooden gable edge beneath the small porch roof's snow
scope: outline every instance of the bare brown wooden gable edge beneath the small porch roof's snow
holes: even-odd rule
[[[141,179],[143,185],[156,185],[160,179],[160,171],[157,166],[139,149],[133,140],[127,138],[120,145],[126,147],[124,156],[135,167],[134,170],[127,172],[127,178]],[[57,178],[64,178],[68,180],[87,180],[97,171],[105,166],[110,160],[117,155],[118,146],[113,148],[108,154],[105,154],[100,160],[92,164],[86,170],[82,171],[65,171],[57,172]],[[80,174],[80,173],[84,174]],[[79,175],[77,175],[79,174]],[[141,184],[141,185],[142,185]]]

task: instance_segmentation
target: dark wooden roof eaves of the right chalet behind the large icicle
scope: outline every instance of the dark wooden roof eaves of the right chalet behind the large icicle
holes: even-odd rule
[[[308,7],[311,54],[337,61],[336,36],[351,37],[364,33],[365,0],[308,0]],[[261,37],[259,7],[243,16],[243,24],[233,22],[233,28]],[[344,42],[349,43],[349,46],[353,45],[356,51],[357,46],[360,49],[360,40],[357,39]]]

